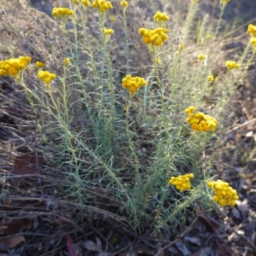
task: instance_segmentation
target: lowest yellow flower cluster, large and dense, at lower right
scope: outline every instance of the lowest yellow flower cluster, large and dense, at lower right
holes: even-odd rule
[[[237,196],[236,189],[232,189],[228,186],[228,182],[223,182],[222,180],[209,181],[207,182],[207,186],[214,190],[215,195],[212,199],[220,206],[226,204],[232,206],[236,205],[236,200],[239,199],[239,196]]]

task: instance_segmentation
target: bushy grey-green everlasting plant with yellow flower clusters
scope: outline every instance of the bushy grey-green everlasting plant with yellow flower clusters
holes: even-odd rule
[[[30,57],[21,56],[0,61],[0,76],[12,76],[17,79],[25,92],[33,97],[38,102],[38,106],[41,106],[45,113],[54,120],[51,122],[52,129],[58,127],[61,130],[61,136],[58,133],[61,143],[56,148],[59,148],[61,154],[65,154],[65,159],[68,159],[64,163],[69,168],[65,175],[67,175],[67,180],[70,179],[68,192],[72,194],[72,200],[76,195],[80,205],[90,202],[95,196],[94,194],[92,196],[90,191],[94,191],[99,186],[99,191],[104,191],[104,193],[110,191],[109,198],[113,200],[114,191],[116,202],[122,205],[122,209],[129,216],[127,218],[129,224],[136,228],[141,228],[141,223],[143,223],[141,220],[150,222],[152,219],[156,228],[169,225],[168,221],[172,218],[176,220],[175,225],[177,225],[179,223],[177,215],[182,214],[189,204],[193,204],[202,196],[205,197],[206,194],[211,196],[206,184],[215,191],[212,197],[214,202],[220,206],[235,205],[239,197],[236,190],[228,186],[227,182],[212,181],[211,173],[205,174],[204,180],[200,180],[202,175],[194,170],[201,168],[200,170],[206,173],[206,168],[198,167],[197,163],[196,167],[195,165],[191,167],[192,170],[186,167],[186,161],[200,158],[198,156],[202,150],[194,150],[196,144],[204,143],[204,141],[211,144],[210,137],[214,136],[212,140],[215,140],[218,136],[217,127],[220,127],[221,131],[224,129],[223,120],[219,114],[225,109],[225,104],[222,104],[225,102],[223,99],[230,99],[230,94],[228,94],[232,92],[230,88],[234,88],[234,82],[241,77],[241,67],[244,67],[242,57],[237,62],[226,61],[228,71],[226,79],[223,79],[224,90],[219,92],[218,86],[213,88],[218,77],[211,69],[211,61],[215,59],[213,54],[217,56],[220,49],[215,50],[211,47],[207,49],[207,44],[216,43],[218,40],[220,22],[215,31],[205,29],[203,22],[200,28],[202,36],[193,49],[191,46],[193,40],[189,40],[189,36],[191,36],[191,24],[198,0],[191,0],[189,3],[185,29],[180,32],[181,39],[175,44],[173,40],[168,40],[166,35],[170,33],[170,38],[175,37],[171,24],[168,24],[168,15],[165,12],[156,12],[153,17],[154,23],[152,22],[154,28],[140,28],[138,31],[144,43],[141,46],[145,47],[145,44],[148,46],[151,54],[150,60],[152,60],[151,66],[146,67],[147,60],[141,63],[147,69],[147,72],[144,72],[147,74],[143,75],[145,77],[143,78],[137,76],[141,72],[139,67],[137,70],[129,63],[131,61],[129,42],[131,36],[128,37],[127,34],[125,14],[129,11],[128,2],[119,2],[124,15],[122,18],[124,19],[126,47],[126,49],[124,47],[126,53],[125,63],[122,63],[122,72],[113,68],[115,59],[111,56],[113,42],[109,40],[109,37],[114,30],[112,25],[110,28],[105,27],[108,20],[115,21],[113,15],[109,15],[109,19],[106,19],[108,13],[112,12],[112,4],[109,1],[100,0],[95,0],[92,4],[88,0],[73,0],[72,2],[70,8],[54,7],[52,10],[52,16],[58,18],[61,23],[68,48],[67,52],[61,52],[61,60],[63,56],[68,57],[61,62],[60,74],[56,72],[58,79],[55,73],[44,70],[45,63],[41,61],[35,63],[39,71],[37,77],[44,82],[47,90],[44,90],[44,86],[38,86],[38,90],[41,91],[37,93],[24,82],[23,71],[31,61]],[[221,12],[223,12],[228,1],[221,0],[220,3]],[[82,4],[84,8],[78,8],[77,4]],[[120,5],[119,9],[121,9]],[[97,9],[95,19],[99,24],[98,37],[93,35],[91,38],[88,35],[86,12],[92,10],[89,6]],[[71,10],[72,8],[74,10]],[[106,12],[107,10],[109,11]],[[73,22],[74,26],[66,26],[69,21]],[[163,27],[164,22],[166,28]],[[250,24],[248,33],[252,36],[250,44],[253,45],[253,52],[255,52],[256,26]],[[115,34],[111,36],[111,39],[115,37]],[[169,55],[163,50],[164,46],[170,47]],[[248,47],[246,51],[249,51]],[[35,68],[35,65],[30,66],[31,69]],[[233,71],[230,72],[230,70]],[[246,68],[244,72],[242,77],[246,74]],[[54,88],[50,86],[52,79],[56,79],[52,83]],[[129,90],[129,99],[124,97],[121,84],[124,89]],[[139,91],[140,88],[144,88],[144,92]],[[221,100],[216,102],[216,106],[212,105],[212,108],[209,108],[205,103],[204,95],[209,96],[211,93],[216,93]],[[124,101],[127,104],[126,108],[123,108]],[[195,107],[189,106],[190,104],[196,106],[196,109],[204,109],[205,113],[209,111],[216,119],[202,111],[195,112]],[[120,105],[122,111],[120,111]],[[191,125],[192,131],[184,125],[182,115],[184,115],[185,108],[188,115],[186,122]],[[136,114],[131,115],[130,109]],[[154,139],[147,139],[148,134]],[[199,136],[205,136],[205,140],[198,140]],[[154,148],[154,152],[148,155],[144,153],[144,149],[142,150],[137,145],[140,143],[138,141],[142,141],[145,147],[150,145]],[[191,141],[193,141],[193,150],[189,150],[192,145]],[[197,158],[193,157],[193,154],[197,154]],[[212,170],[212,166],[207,167],[207,170]],[[189,173],[186,174],[186,172]],[[123,177],[125,178],[122,179]],[[198,186],[191,185],[190,179],[193,177],[200,180]],[[184,201],[179,202],[179,207],[176,202],[170,204],[169,207],[166,206],[166,202],[169,204],[175,198],[175,195],[170,192],[170,184],[188,195],[184,197]],[[160,212],[159,218],[156,215],[156,209]]]

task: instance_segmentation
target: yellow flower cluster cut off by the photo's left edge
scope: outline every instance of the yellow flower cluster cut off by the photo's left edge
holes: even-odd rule
[[[0,76],[17,76],[19,70],[26,68],[26,65],[31,61],[29,56],[20,56],[19,59],[11,58],[8,60],[0,60]]]

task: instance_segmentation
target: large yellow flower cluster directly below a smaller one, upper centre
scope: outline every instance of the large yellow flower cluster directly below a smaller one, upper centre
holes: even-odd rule
[[[168,38],[166,33],[164,33],[163,28],[156,28],[154,30],[140,28],[139,34],[143,37],[143,42],[145,44],[152,44],[156,46],[163,45],[163,42]]]

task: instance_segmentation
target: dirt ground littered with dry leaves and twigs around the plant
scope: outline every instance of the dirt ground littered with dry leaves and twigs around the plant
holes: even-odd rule
[[[35,8],[48,15],[51,14],[54,1],[31,0]],[[203,4],[201,14],[212,13],[218,1],[208,1]],[[233,20],[234,16],[241,18],[241,24],[256,17],[256,0],[231,0],[228,4],[225,19]],[[255,19],[256,20],[256,19]],[[1,20],[3,22],[3,19]],[[8,36],[1,31],[2,36]],[[12,35],[11,35],[12,36]],[[234,45],[227,45],[232,50]],[[236,45],[235,45],[236,47]],[[24,46],[24,51],[29,47]],[[230,51],[232,52],[232,51]],[[104,220],[104,212],[99,212],[101,218],[93,221],[76,219],[78,211],[83,211],[78,205],[67,205],[65,200],[58,198],[38,197],[40,186],[32,186],[29,182],[52,186],[51,179],[40,180],[40,175],[34,175],[33,180],[19,186],[23,197],[6,197],[8,191],[17,189],[19,180],[13,181],[10,187],[2,186],[2,205],[0,205],[0,256],[50,256],[50,255],[101,255],[101,256],[228,256],[256,255],[256,66],[255,61],[250,66],[249,74],[239,85],[236,96],[230,107],[234,116],[234,125],[223,137],[220,148],[219,173],[227,177],[238,191],[239,201],[236,207],[220,211],[218,214],[196,212],[188,215],[186,225],[182,230],[170,230],[172,235],[163,232],[160,236],[151,236],[147,231],[139,236],[134,230],[125,227],[122,220]],[[29,109],[26,97],[18,92],[19,87],[11,79],[0,77],[0,140],[2,145],[8,141],[22,141],[29,137],[29,120],[33,119],[33,111]],[[11,103],[10,103],[11,102]],[[24,110],[26,109],[26,115]],[[26,120],[26,122],[24,122]],[[22,124],[22,125],[20,125]],[[26,125],[23,125],[26,124]],[[36,145],[36,140],[30,138]],[[19,152],[33,151],[28,145],[19,143]],[[36,147],[39,147],[36,145]],[[10,158],[9,156],[12,155]],[[8,156],[8,157],[7,157]],[[31,157],[31,156],[29,156]],[[40,157],[36,157],[38,164]],[[28,161],[28,157],[26,158]],[[19,159],[10,153],[9,148],[1,149],[0,174],[5,177],[15,172],[15,163]],[[19,163],[18,163],[19,164]],[[225,172],[222,168],[225,166]],[[47,173],[47,168],[45,169]],[[49,174],[49,173],[48,173]],[[51,174],[49,174],[51,175]],[[51,177],[60,180],[61,177]],[[18,183],[17,183],[18,182]],[[2,184],[3,185],[3,184]],[[26,186],[31,191],[26,192]],[[58,183],[61,187],[61,182]],[[33,190],[37,189],[37,191]],[[70,212],[70,206],[74,211]],[[97,215],[96,214],[96,215]],[[6,231],[7,230],[7,231]]]

